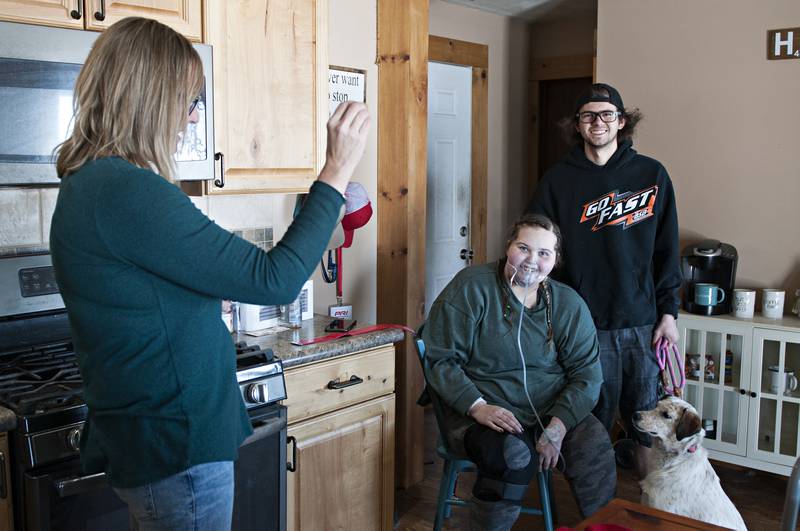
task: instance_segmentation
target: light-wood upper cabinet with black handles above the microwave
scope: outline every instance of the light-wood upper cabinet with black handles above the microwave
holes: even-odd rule
[[[102,31],[125,17],[163,22],[188,39],[202,38],[201,0],[0,0],[0,19]]]

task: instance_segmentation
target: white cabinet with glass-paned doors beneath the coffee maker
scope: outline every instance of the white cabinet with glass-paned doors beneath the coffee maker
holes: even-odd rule
[[[709,455],[789,475],[800,457],[800,320],[682,313],[678,329],[684,398],[706,424]]]

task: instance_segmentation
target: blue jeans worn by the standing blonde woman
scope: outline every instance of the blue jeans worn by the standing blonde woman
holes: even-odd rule
[[[225,531],[233,515],[233,461],[202,463],[174,476],[117,489],[134,531]]]

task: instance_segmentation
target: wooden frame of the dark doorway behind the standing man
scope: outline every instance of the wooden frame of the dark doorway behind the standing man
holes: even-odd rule
[[[595,58],[591,55],[566,55],[561,57],[531,57],[528,102],[528,197],[539,183],[539,116],[541,115],[541,83],[553,79],[591,77],[595,79]]]

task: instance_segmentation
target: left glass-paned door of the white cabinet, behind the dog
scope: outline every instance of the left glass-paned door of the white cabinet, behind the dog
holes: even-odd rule
[[[684,399],[700,413],[706,448],[744,456],[747,452],[752,332],[735,323],[694,321],[681,316]]]

